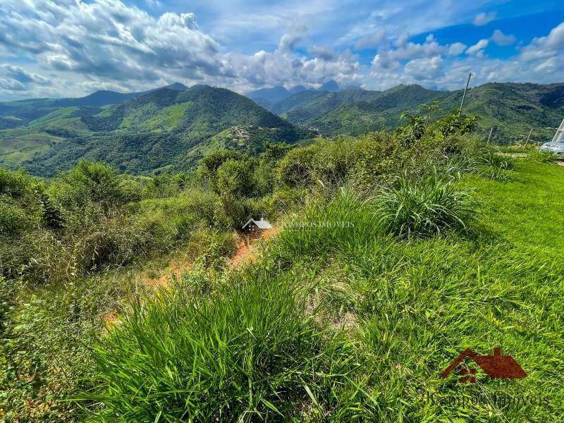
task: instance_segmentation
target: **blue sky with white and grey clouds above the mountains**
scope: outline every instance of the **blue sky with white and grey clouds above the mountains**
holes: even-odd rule
[[[564,1],[1,0],[0,100],[564,82]]]

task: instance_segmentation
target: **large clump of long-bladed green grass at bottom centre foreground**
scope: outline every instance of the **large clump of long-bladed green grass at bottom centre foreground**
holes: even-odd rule
[[[255,421],[319,405],[345,353],[305,315],[293,281],[243,276],[213,298],[177,290],[137,304],[94,352],[94,420]]]

